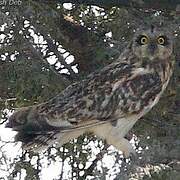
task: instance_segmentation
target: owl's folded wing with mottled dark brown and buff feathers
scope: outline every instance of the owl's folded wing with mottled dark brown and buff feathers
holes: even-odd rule
[[[6,127],[18,131],[17,140],[28,143],[38,135],[86,128],[150,108],[148,103],[162,88],[160,77],[124,60],[70,85],[46,103],[15,112]]]

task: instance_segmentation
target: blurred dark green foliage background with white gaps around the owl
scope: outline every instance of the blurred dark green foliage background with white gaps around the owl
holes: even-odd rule
[[[22,151],[5,129],[18,108],[45,102],[113,62],[138,28],[163,26],[175,40],[176,65],[158,105],[127,138],[136,159],[92,134],[61,148]],[[180,179],[179,0],[0,1],[0,179]]]

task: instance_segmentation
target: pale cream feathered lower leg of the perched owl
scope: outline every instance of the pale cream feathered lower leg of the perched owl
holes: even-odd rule
[[[131,143],[125,138],[118,138],[115,136],[106,137],[108,144],[112,144],[115,148],[123,152],[123,155],[127,158],[131,154],[136,155],[135,149],[133,149]]]

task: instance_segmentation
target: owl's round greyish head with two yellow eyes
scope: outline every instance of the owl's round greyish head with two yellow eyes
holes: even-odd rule
[[[135,35],[132,48],[134,54],[140,59],[163,60],[171,56],[173,40],[165,31],[151,26],[149,30],[139,31]]]

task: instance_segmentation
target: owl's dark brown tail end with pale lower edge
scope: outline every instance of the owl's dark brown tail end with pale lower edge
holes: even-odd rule
[[[21,141],[23,149],[39,152],[55,143],[60,130],[48,125],[44,117],[32,111],[32,108],[27,107],[15,112],[8,119],[6,128],[17,132],[15,141]]]

